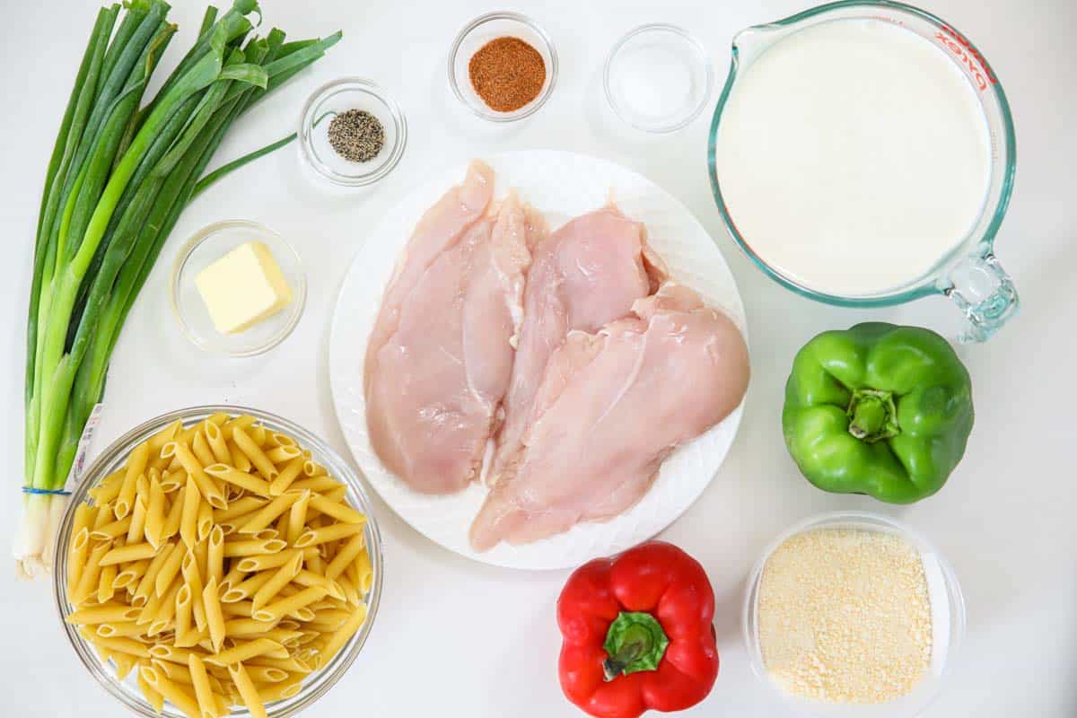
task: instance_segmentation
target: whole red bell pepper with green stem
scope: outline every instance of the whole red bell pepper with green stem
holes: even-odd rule
[[[671,544],[591,561],[557,601],[561,689],[599,718],[696,705],[718,675],[713,620],[707,573]]]

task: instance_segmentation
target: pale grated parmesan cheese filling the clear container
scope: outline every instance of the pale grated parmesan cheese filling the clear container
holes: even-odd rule
[[[788,538],[764,566],[758,618],[767,672],[801,698],[885,703],[931,665],[924,564],[893,534],[819,529]]]

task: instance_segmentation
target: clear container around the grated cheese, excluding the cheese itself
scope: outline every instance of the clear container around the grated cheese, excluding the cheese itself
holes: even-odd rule
[[[927,675],[908,694],[889,703],[844,704],[811,701],[783,690],[771,680],[763,660],[759,643],[759,585],[768,559],[787,539],[801,533],[820,529],[855,529],[900,536],[920,551],[927,577],[927,591],[932,604],[932,663]],[[945,619],[945,620],[943,620]],[[868,511],[834,511],[806,519],[771,541],[763,557],[752,568],[744,594],[742,629],[752,672],[793,706],[798,715],[821,718],[912,718],[919,716],[938,696],[953,659],[965,638],[965,600],[953,568],[938,550],[920,533],[890,517]]]

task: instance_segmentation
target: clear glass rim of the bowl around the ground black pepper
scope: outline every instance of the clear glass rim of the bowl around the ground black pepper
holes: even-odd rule
[[[311,130],[313,129],[316,119],[314,110],[319,103],[338,89],[358,89],[364,91],[377,98],[389,110],[389,116],[392,118],[393,129],[395,130],[395,141],[389,150],[389,156],[386,160],[369,172],[365,172],[363,174],[341,174],[340,172],[337,172],[328,167],[325,163],[321,161],[314,155],[313,143],[311,140]],[[307,98],[306,102],[303,103],[303,110],[299,113],[298,137],[299,150],[303,158],[306,160],[308,166],[318,172],[319,175],[325,178],[337,186],[363,187],[374,184],[392,172],[400,163],[401,157],[404,156],[404,150],[407,146],[407,116],[404,114],[404,110],[401,109],[400,103],[396,102],[393,96],[390,95],[389,90],[384,87],[366,78],[361,78],[359,75],[346,75],[344,78],[331,80],[330,82],[321,85],[314,89],[314,91],[312,91]]]

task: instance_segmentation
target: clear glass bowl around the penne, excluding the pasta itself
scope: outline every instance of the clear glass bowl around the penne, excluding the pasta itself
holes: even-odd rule
[[[56,601],[56,608],[59,611],[60,624],[64,627],[64,632],[67,634],[71,647],[74,648],[83,665],[89,671],[89,674],[101,684],[104,690],[127,706],[127,708],[145,718],[157,718],[157,713],[154,712],[153,706],[142,696],[142,692],[135,684],[134,672],[125,680],[116,678],[115,668],[108,663],[103,663],[98,658],[93,646],[79,635],[75,627],[67,622],[67,617],[71,615],[71,607],[67,602],[67,547],[71,540],[71,526],[74,521],[74,512],[78,506],[88,498],[86,492],[100,483],[112,471],[118,469],[127,461],[127,456],[131,450],[139,444],[177,419],[181,420],[185,426],[190,426],[218,412],[250,414],[264,424],[266,428],[293,436],[298,444],[303,445],[304,449],[311,452],[313,460],[323,465],[331,476],[348,484],[348,503],[366,516],[366,527],[364,529],[363,536],[366,539],[366,549],[370,555],[370,566],[373,568],[370,590],[364,596],[367,607],[366,620],[355,635],[345,644],[326,665],[307,676],[298,693],[292,698],[266,704],[266,713],[269,717],[288,718],[289,716],[294,716],[324,695],[344,676],[345,672],[347,672],[348,667],[363,649],[363,644],[366,643],[366,638],[369,636],[370,629],[374,625],[374,619],[378,614],[378,603],[381,600],[382,574],[384,571],[384,558],[381,552],[381,534],[378,531],[378,523],[373,513],[370,498],[366,493],[366,489],[363,488],[358,471],[330,448],[328,445],[286,419],[248,407],[230,405],[191,407],[151,419],[113,441],[87,467],[84,479],[72,492],[67,510],[64,512],[64,518],[60,521],[56,537],[56,554],[53,563],[53,595]],[[93,499],[89,501],[92,502]],[[160,715],[166,718],[184,718],[183,714],[170,703],[165,704],[165,709]],[[241,706],[236,706],[232,709],[229,716],[242,718],[250,716],[250,713]]]

